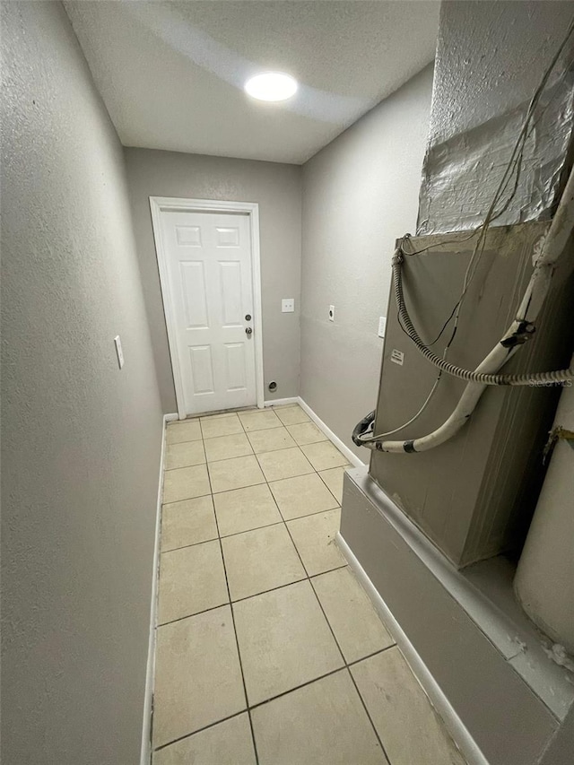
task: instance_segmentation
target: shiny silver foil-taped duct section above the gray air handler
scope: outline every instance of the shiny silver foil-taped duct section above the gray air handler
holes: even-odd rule
[[[419,233],[465,230],[483,222],[530,100],[572,18],[571,2],[441,4]],[[535,110],[516,196],[496,225],[552,217],[565,181],[573,91],[570,39]]]

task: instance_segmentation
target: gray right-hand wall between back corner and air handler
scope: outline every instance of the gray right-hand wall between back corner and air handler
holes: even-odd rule
[[[395,239],[414,233],[431,90],[429,66],[303,166],[300,396],[364,462],[351,433],[377,401],[378,317]]]

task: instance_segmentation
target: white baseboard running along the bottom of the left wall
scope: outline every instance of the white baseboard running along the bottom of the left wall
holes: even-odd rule
[[[150,637],[147,648],[147,667],[145,670],[145,696],[143,699],[142,749],[140,765],[150,765],[152,761],[152,700],[153,677],[155,674],[155,622],[158,609],[158,574],[160,568],[160,531],[161,531],[161,496],[163,493],[163,465],[165,460],[165,430],[168,422],[178,420],[178,414],[164,414],[161,428],[160,479],[158,481],[158,499],[155,510],[155,539],[153,542],[152,603],[150,605]]]

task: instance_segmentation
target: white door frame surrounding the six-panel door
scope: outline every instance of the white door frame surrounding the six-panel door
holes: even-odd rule
[[[251,283],[253,286],[253,313],[255,335],[255,383],[257,408],[263,409],[265,401],[264,373],[263,373],[263,319],[261,316],[261,256],[259,245],[259,204],[257,202],[228,202],[217,199],[182,199],[177,196],[150,196],[150,209],[152,211],[153,239],[155,240],[155,252],[160,272],[161,298],[163,300],[163,313],[168,330],[168,343],[170,345],[171,372],[176,389],[176,401],[178,404],[178,417],[185,420],[187,417],[184,395],[183,379],[179,366],[178,345],[176,341],[176,319],[170,300],[168,279],[168,259],[161,237],[161,213],[245,213],[249,219],[251,234]]]

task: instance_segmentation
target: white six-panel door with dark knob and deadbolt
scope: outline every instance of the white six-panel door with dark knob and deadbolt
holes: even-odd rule
[[[185,413],[256,404],[249,216],[161,211],[161,239]]]

